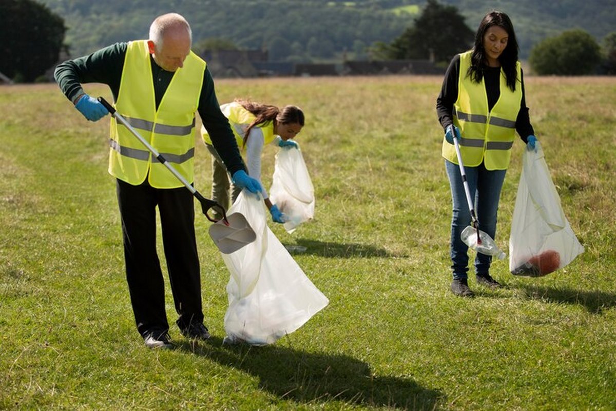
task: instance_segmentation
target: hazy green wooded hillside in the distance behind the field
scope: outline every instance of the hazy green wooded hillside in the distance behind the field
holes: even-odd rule
[[[339,57],[343,50],[365,55],[376,41],[391,42],[421,11],[417,0],[41,0],[65,19],[72,55],[92,52],[116,41],[145,38],[156,15],[185,15],[197,43],[206,38],[232,41],[242,49],[276,49],[288,60]],[[616,0],[441,0],[458,7],[471,30],[485,12],[497,7],[516,27],[521,57],[533,44],[571,28],[598,41],[616,30]],[[426,56],[428,57],[428,56]]]

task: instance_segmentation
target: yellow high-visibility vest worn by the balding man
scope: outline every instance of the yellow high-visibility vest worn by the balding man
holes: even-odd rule
[[[147,41],[128,43],[115,108],[189,183],[195,179],[195,111],[206,63],[193,52],[174,73],[156,110]],[[155,188],[182,183],[115,118],[111,118],[109,172],[132,185],[148,178]]]

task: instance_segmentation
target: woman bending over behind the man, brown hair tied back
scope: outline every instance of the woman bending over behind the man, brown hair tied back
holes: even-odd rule
[[[285,106],[280,110],[276,106],[236,99],[232,103],[222,105],[221,110],[229,119],[241,153],[246,154],[248,175],[259,180],[259,183],[261,183],[261,153],[265,144],[275,142],[282,148],[298,147],[293,138],[304,127],[304,113],[297,106]],[[228,210],[230,204],[240,195],[241,187],[230,183],[227,168],[212,145],[207,130],[203,127],[201,136],[213,156],[212,198]],[[270,211],[272,220],[284,223],[285,215],[280,212],[276,204],[272,204],[262,184],[261,187],[265,206]],[[222,216],[214,215],[214,217]]]

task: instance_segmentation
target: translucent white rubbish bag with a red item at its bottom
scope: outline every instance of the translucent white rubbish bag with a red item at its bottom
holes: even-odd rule
[[[584,252],[562,212],[543,150],[524,150],[522,174],[509,236],[509,271],[540,277],[563,268]]]

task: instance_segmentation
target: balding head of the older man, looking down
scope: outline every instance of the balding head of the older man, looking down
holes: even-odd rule
[[[176,71],[182,68],[191,44],[190,25],[181,15],[163,14],[152,22],[148,49],[156,64],[164,70]]]

